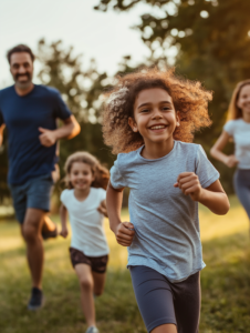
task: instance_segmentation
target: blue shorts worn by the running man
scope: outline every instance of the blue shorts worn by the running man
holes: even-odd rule
[[[27,209],[50,211],[52,186],[53,181],[50,174],[30,179],[20,185],[9,184],[19,223],[24,222]]]

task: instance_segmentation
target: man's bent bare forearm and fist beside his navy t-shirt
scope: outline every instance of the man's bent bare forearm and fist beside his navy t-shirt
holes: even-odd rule
[[[42,145],[51,147],[60,139],[72,139],[81,132],[80,124],[74,115],[63,120],[64,124],[56,130],[48,130],[39,128],[41,134],[39,135]]]

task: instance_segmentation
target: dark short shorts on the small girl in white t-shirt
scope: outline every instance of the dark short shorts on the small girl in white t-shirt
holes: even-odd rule
[[[108,255],[103,256],[86,256],[82,251],[70,248],[71,262],[73,268],[77,264],[84,263],[91,266],[93,272],[105,273]]]

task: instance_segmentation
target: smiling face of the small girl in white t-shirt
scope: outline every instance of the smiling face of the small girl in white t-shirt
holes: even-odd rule
[[[74,162],[71,167],[69,180],[75,190],[86,191],[94,181],[91,165],[83,162]]]

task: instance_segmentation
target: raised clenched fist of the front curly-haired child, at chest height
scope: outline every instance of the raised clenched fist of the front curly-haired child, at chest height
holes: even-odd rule
[[[194,172],[180,173],[174,186],[179,188],[185,195],[190,195],[194,201],[199,201],[202,192],[199,178]]]

